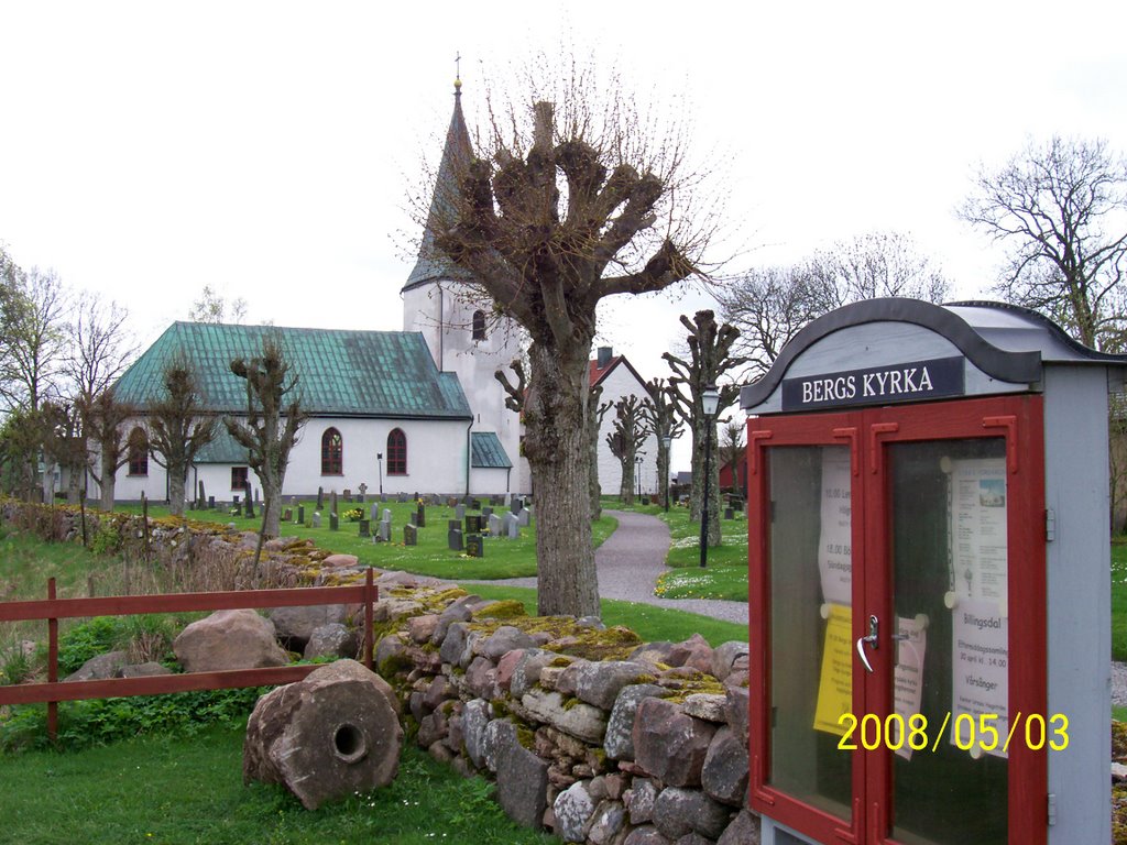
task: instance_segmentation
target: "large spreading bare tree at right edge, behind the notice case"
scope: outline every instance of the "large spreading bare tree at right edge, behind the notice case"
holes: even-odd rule
[[[1095,349],[1119,344],[1127,252],[1127,161],[1106,141],[1028,142],[979,167],[959,216],[1008,250],[996,290]]]

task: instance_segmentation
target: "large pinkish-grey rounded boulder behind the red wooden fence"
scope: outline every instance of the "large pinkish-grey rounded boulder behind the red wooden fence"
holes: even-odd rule
[[[290,656],[275,639],[274,623],[254,611],[216,611],[193,622],[172,641],[185,671],[285,666]]]

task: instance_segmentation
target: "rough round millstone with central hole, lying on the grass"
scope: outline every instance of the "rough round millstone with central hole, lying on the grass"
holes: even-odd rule
[[[385,786],[403,745],[396,704],[388,683],[355,660],[279,686],[250,714],[243,782],[281,783],[309,810]]]

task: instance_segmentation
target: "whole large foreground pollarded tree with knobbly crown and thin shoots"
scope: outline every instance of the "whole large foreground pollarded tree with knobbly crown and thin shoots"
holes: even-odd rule
[[[533,74],[530,74],[533,75]],[[506,101],[456,178],[435,186],[426,238],[531,338],[524,454],[536,492],[539,611],[597,615],[588,358],[604,296],[700,272],[716,216],[698,213],[682,133],[660,133],[619,80],[576,65]]]

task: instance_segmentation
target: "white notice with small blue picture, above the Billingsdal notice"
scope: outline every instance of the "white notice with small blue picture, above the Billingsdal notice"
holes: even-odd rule
[[[953,461],[951,567],[961,599],[1006,613],[1005,459]]]

